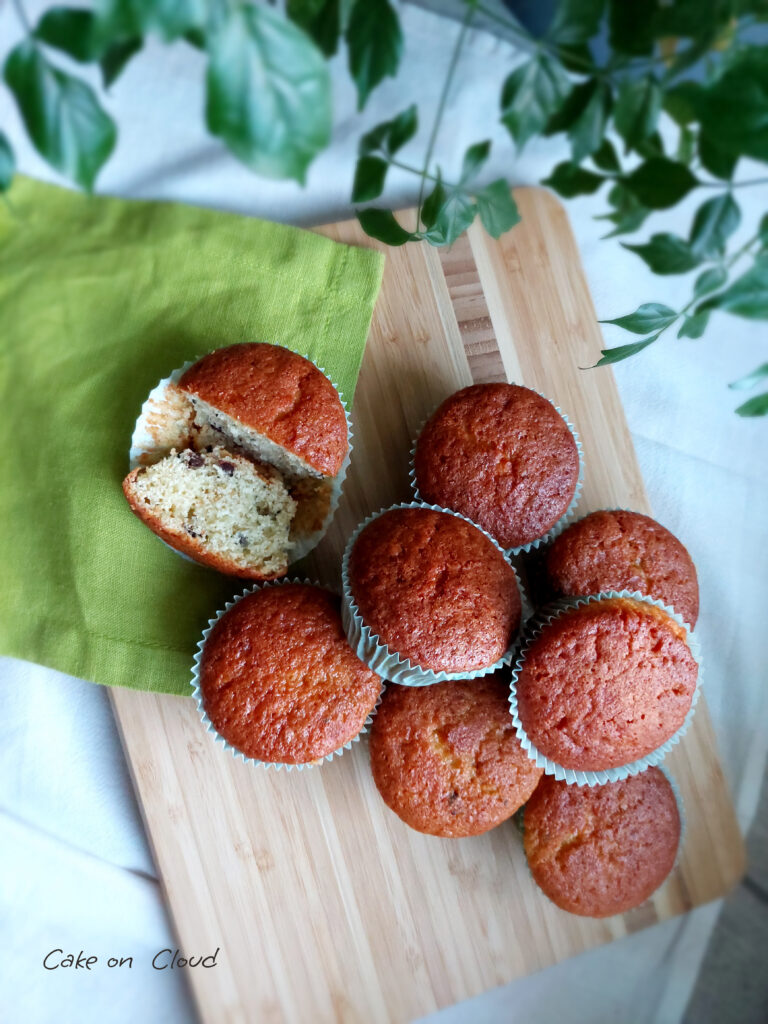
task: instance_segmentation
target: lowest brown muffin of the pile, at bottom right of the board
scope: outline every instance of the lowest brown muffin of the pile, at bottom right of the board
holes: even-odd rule
[[[680,812],[658,768],[594,788],[545,776],[523,812],[540,889],[563,910],[609,918],[643,903],[672,870]]]

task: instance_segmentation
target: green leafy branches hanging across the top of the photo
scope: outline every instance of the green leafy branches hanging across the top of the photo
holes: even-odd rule
[[[564,135],[570,157],[545,184],[565,199],[604,189],[606,238],[639,231],[652,213],[695,190],[709,196],[685,238],[662,231],[623,243],[654,273],[698,273],[678,309],[647,302],[605,321],[638,340],[604,350],[596,366],[642,351],[673,327],[678,338],[699,338],[714,312],[768,319],[768,214],[748,243],[729,251],[741,219],[736,194],[768,183],[735,175],[742,157],[768,163],[768,48],[749,35],[768,22],[768,0],[559,0],[542,38],[480,0],[464,2],[423,158],[402,153],[414,150],[418,134],[415,103],[359,140],[352,201],[360,205],[366,231],[388,245],[447,246],[477,216],[495,238],[519,220],[506,178],[478,183],[489,141],[468,146],[454,180],[433,163],[462,48],[483,18],[526,54],[500,86],[499,117],[513,146],[519,152],[538,136]],[[402,56],[393,0],[285,0],[284,9],[250,0],[93,0],[90,8],[53,6],[35,26],[24,0],[12,3],[25,37],[5,59],[5,85],[38,152],[88,190],[118,129],[102,97],[60,67],[56,53],[96,66],[109,90],[147,37],[197,47],[207,61],[211,134],[257,173],[299,182],[331,138],[328,59],[345,48],[362,110]],[[595,56],[598,37],[608,42],[602,62]],[[659,133],[663,117],[677,131],[669,152]],[[418,178],[413,229],[391,210],[367,205],[380,200],[390,168]],[[0,193],[14,171],[12,147],[0,131]],[[731,386],[765,382],[766,366]],[[768,392],[736,412],[768,414]]]

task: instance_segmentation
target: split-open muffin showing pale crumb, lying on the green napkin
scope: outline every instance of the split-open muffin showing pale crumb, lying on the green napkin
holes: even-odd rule
[[[123,490],[177,551],[266,580],[323,536],[348,454],[344,406],[322,371],[279,345],[230,345],[152,392]],[[222,465],[234,467],[228,481]]]

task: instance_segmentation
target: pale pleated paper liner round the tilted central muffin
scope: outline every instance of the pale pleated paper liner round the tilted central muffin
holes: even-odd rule
[[[366,526],[373,522],[374,519],[378,519],[378,517],[383,515],[385,512],[391,512],[395,509],[429,509],[432,512],[445,512],[449,515],[456,516],[457,519],[464,519],[464,521],[468,522],[470,526],[474,526],[476,529],[479,529],[480,532],[490,541],[497,551],[504,556],[504,560],[515,574],[515,581],[520,594],[522,613],[520,620],[520,630],[518,630],[517,635],[513,639],[503,657],[501,657],[494,665],[484,669],[467,669],[464,672],[434,672],[431,669],[422,669],[418,665],[414,665],[409,658],[400,657],[396,651],[390,651],[387,644],[381,642],[380,638],[372,631],[371,627],[366,626],[364,618],[357,609],[354,598],[352,597],[352,588],[349,583],[349,556],[352,552],[355,541]],[[366,663],[369,669],[373,669],[373,671],[381,676],[382,679],[386,679],[390,683],[398,683],[400,686],[431,686],[434,683],[444,683],[457,679],[477,679],[480,676],[488,676],[494,672],[498,672],[499,669],[511,665],[522,633],[522,627],[532,614],[530,603],[527,595],[525,594],[525,590],[522,586],[517,569],[510,561],[507,553],[494,540],[490,534],[483,529],[482,526],[478,526],[477,523],[472,522],[471,519],[468,519],[460,512],[454,512],[452,509],[444,509],[439,505],[426,505],[424,502],[410,502],[401,505],[391,505],[389,508],[379,509],[378,512],[370,515],[368,519],[365,519],[361,523],[359,523],[347,541],[346,548],[344,549],[344,557],[341,562],[341,581],[342,620],[344,622],[347,640],[349,641],[352,650],[361,662]]]

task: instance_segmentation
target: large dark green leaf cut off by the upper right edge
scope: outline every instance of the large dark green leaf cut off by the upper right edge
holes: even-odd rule
[[[705,90],[698,115],[718,148],[768,161],[768,47],[743,46]]]

